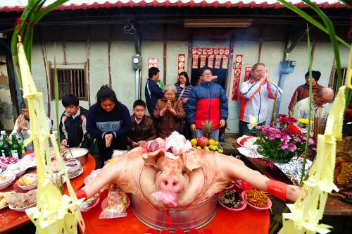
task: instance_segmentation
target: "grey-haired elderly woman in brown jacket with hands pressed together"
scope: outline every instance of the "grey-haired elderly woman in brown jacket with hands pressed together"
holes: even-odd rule
[[[168,137],[173,131],[180,131],[181,122],[186,118],[182,101],[176,99],[175,85],[164,87],[163,99],[158,99],[153,116],[156,118],[158,137]]]

